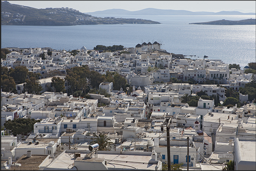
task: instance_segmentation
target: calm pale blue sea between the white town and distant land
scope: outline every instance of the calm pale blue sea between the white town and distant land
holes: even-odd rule
[[[74,50],[85,46],[159,42],[169,53],[191,59],[221,59],[241,69],[256,62],[256,25],[195,25],[193,22],[255,19],[255,15],[94,15],[137,18],[161,24],[28,26],[2,25],[1,48],[53,48]]]

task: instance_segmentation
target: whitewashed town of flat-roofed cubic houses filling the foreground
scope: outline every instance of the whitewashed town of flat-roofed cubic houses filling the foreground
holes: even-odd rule
[[[2,69],[23,66],[42,89],[22,82],[1,91],[1,170],[222,170],[230,161],[256,170],[255,98],[241,91],[255,81],[249,66],[168,53],[159,42],[106,52],[7,49]],[[83,96],[96,81],[85,77],[88,87],[75,93],[71,70],[85,66],[119,74],[126,86],[102,81]],[[34,119],[33,130],[14,135],[4,126],[19,118]]]

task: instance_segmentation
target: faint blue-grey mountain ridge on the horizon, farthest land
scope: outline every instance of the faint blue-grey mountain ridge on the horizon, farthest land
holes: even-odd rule
[[[87,12],[84,14],[90,15],[256,15],[256,13],[242,13],[239,11],[220,11],[220,12],[192,12],[186,10],[172,10],[172,9],[156,9],[146,8],[139,11],[127,11],[124,9],[107,9],[104,11]]]

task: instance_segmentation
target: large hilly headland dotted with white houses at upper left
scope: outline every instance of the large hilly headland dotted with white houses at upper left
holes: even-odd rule
[[[73,8],[37,9],[1,1],[1,25],[160,24],[135,18],[93,17]]]

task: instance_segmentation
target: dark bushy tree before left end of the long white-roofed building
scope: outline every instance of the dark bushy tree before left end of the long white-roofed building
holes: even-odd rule
[[[30,80],[26,79],[26,83],[23,84],[23,93],[26,91],[31,94],[40,94],[42,89],[42,86],[39,81],[37,81],[36,78],[31,77]]]

